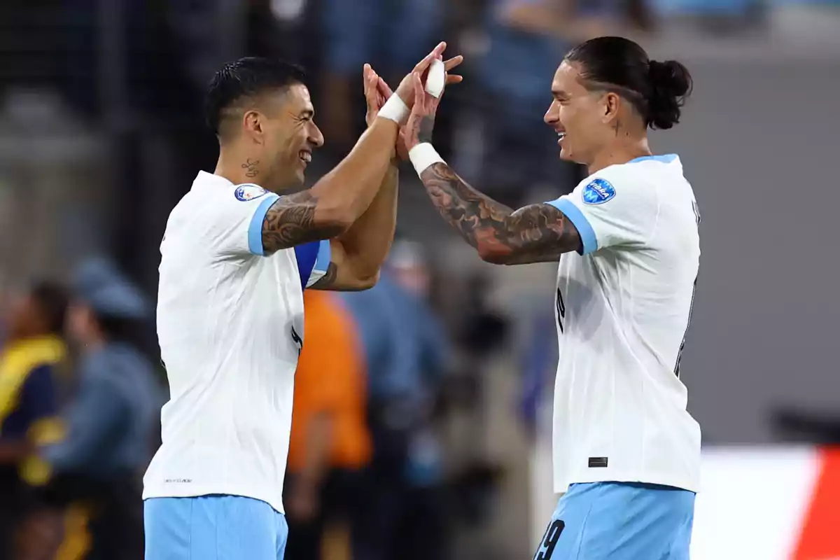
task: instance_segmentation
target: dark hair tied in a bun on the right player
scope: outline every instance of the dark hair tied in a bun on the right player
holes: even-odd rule
[[[685,65],[676,60],[650,60],[638,44],[622,37],[598,37],[581,43],[566,60],[582,66],[590,89],[614,89],[633,103],[650,128],[671,128],[680,122],[693,86]]]

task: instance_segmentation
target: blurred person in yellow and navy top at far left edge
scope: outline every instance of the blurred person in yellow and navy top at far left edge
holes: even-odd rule
[[[37,508],[32,453],[56,435],[56,368],[66,358],[60,338],[66,297],[59,286],[34,285],[14,301],[0,354],[0,557],[27,553],[15,538],[19,521]],[[53,536],[57,538],[57,536]]]

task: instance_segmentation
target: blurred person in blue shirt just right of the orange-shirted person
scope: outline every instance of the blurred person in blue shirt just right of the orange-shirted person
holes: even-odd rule
[[[428,289],[422,249],[398,241],[377,285],[344,294],[365,353],[373,440],[363,560],[440,560],[446,554],[432,416],[450,348]]]

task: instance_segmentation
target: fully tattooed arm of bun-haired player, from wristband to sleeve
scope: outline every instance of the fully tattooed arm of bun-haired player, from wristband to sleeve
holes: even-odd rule
[[[514,212],[475,191],[442,163],[424,170],[420,179],[441,216],[488,262],[557,260],[581,248],[574,224],[553,206],[533,204]]]

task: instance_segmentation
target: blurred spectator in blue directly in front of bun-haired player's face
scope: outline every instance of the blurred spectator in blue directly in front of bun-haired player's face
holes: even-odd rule
[[[632,5],[631,5],[632,4]],[[481,61],[491,118],[483,191],[514,207],[531,190],[552,185],[556,194],[582,179],[575,165],[560,162],[556,134],[543,123],[554,71],[572,46],[617,34],[632,8],[647,24],[641,2],[618,0],[492,0],[486,33],[490,49]]]

